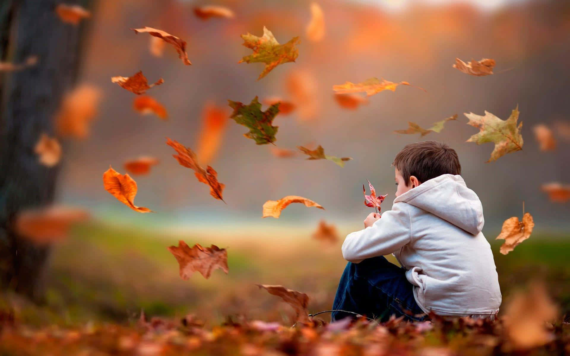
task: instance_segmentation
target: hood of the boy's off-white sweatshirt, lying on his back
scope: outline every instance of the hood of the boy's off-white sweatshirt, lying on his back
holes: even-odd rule
[[[421,208],[477,235],[483,230],[483,206],[461,175],[443,174],[429,179],[394,199]]]

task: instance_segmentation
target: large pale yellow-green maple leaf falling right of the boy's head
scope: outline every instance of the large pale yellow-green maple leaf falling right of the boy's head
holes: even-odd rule
[[[520,134],[520,128],[523,123],[517,126],[516,121],[519,120],[519,106],[512,111],[511,116],[503,121],[485,111],[485,115],[477,115],[474,113],[464,113],[469,122],[467,125],[474,126],[481,130],[467,140],[467,142],[475,142],[476,144],[484,144],[485,142],[494,142],[495,149],[491,152],[491,157],[487,162],[496,161],[499,157],[507,153],[519,151],[523,149],[523,136]]]

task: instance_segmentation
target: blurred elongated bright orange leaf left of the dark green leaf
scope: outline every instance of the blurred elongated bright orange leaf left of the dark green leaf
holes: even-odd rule
[[[198,161],[206,165],[213,161],[222,143],[230,114],[227,108],[219,108],[206,103],[202,109],[202,128],[198,134]]]

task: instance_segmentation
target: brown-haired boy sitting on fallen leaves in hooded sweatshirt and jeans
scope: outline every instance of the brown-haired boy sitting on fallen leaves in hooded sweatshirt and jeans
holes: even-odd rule
[[[501,294],[483,207],[461,178],[454,149],[436,141],[404,147],[394,159],[392,210],[371,213],[343,243],[344,269],[333,309],[387,320],[494,318]],[[392,253],[402,267],[388,262]],[[353,315],[333,312],[332,319]]]

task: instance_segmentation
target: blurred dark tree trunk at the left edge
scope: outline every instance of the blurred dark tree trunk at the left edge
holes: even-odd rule
[[[54,114],[78,73],[82,28],[59,20],[59,2],[0,1],[0,60],[38,56],[34,67],[0,73],[0,287],[36,301],[49,248],[18,236],[14,218],[54,199],[58,167],[40,165],[34,146],[42,132],[54,135]]]

